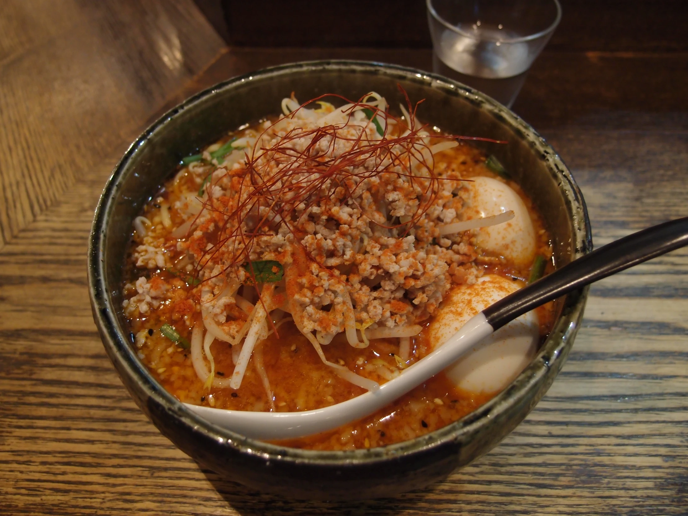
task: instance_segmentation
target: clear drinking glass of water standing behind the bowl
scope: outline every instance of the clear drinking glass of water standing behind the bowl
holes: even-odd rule
[[[433,71],[510,107],[561,19],[558,0],[426,0]]]

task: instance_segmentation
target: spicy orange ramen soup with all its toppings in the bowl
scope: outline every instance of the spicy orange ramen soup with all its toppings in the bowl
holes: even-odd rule
[[[184,158],[144,207],[122,305],[171,394],[247,411],[343,402],[441,345],[476,299],[541,274],[548,235],[499,163],[400,108],[374,92],[338,108],[292,95],[284,116]],[[531,315],[510,370],[476,352],[368,418],[284,444],[376,447],[457,420],[530,360],[552,320]]]

